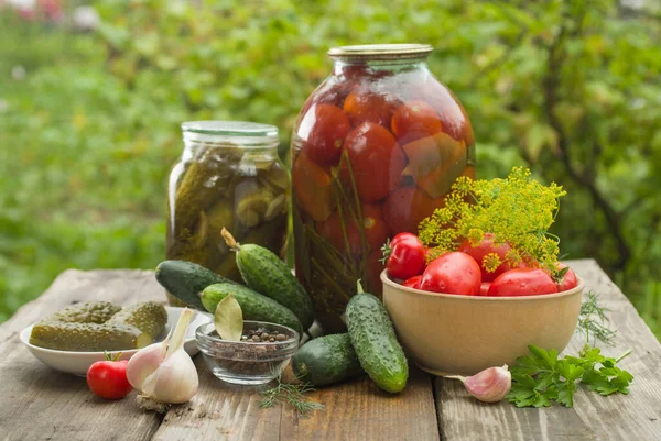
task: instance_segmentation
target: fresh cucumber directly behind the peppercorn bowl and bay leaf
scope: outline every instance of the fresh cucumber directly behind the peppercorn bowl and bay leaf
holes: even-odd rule
[[[207,311],[214,313],[218,302],[230,294],[241,306],[245,320],[284,324],[303,335],[301,322],[289,308],[241,285],[221,283],[207,286],[201,295],[202,304]]]

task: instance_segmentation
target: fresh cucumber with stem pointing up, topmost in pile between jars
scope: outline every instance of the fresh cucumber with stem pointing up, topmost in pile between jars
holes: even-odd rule
[[[308,329],[314,321],[312,300],[289,266],[263,246],[241,245],[225,229],[221,234],[237,253],[237,266],[246,285],[291,309],[303,328]]]

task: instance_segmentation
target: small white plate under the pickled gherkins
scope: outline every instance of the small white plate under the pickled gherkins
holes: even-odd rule
[[[170,306],[165,307],[165,310],[167,311],[167,323],[156,341],[163,341],[172,327],[176,326],[182,309],[183,308]],[[184,343],[184,349],[191,356],[197,354],[197,345],[195,344],[195,330],[201,324],[208,323],[213,320],[214,317],[210,313],[195,311],[195,315],[191,320],[191,324],[188,326],[188,330],[186,331],[186,341]],[[46,366],[67,372],[69,374],[85,376],[87,374],[87,370],[94,362],[106,360],[104,352],[58,351],[30,344],[30,334],[32,333],[33,326],[34,324],[31,324],[21,331],[21,341],[23,344],[25,344],[25,346],[28,346],[30,352],[32,352],[32,355],[37,357]],[[118,352],[121,352],[120,360],[129,360],[136,352],[138,352],[138,350],[131,349],[127,351],[111,351],[110,353],[115,355]]]

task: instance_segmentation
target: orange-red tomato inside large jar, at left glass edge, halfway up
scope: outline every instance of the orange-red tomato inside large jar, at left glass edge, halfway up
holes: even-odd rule
[[[299,154],[292,166],[292,187],[295,202],[315,221],[330,217],[335,208],[333,179],[326,168]]]

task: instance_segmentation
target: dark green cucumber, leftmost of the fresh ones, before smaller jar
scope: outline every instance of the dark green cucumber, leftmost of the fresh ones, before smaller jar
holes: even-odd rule
[[[230,282],[223,276],[186,261],[164,261],[156,266],[156,280],[186,306],[204,311],[199,293],[209,285]]]

